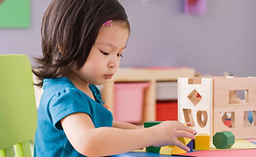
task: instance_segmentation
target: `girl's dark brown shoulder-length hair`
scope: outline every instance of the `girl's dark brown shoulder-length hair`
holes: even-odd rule
[[[39,65],[32,69],[39,78],[36,85],[70,72],[70,67],[80,69],[108,20],[125,22],[130,31],[124,7],[117,0],[53,0],[42,21],[43,57],[36,58]]]

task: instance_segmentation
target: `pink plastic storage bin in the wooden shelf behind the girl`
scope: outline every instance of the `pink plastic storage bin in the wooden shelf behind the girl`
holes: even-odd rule
[[[114,119],[139,123],[145,88],[149,83],[116,83],[114,87]]]

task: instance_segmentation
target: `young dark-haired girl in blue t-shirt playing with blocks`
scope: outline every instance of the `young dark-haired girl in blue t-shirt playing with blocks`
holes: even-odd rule
[[[119,66],[130,34],[117,0],[53,0],[43,17],[43,57],[33,69],[44,93],[38,110],[34,156],[106,156],[195,139],[178,121],[149,128],[113,121],[96,85]]]

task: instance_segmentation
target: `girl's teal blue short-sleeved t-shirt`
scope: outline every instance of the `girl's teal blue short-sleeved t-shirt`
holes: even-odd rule
[[[79,154],[69,143],[60,119],[71,113],[89,114],[96,127],[112,126],[113,116],[103,105],[96,85],[89,85],[93,100],[80,91],[68,78],[46,78],[38,109],[38,127],[34,157],[77,157]]]

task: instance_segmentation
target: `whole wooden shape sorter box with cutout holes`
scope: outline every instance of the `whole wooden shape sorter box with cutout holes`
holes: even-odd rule
[[[178,119],[198,133],[256,138],[256,77],[178,78]]]

